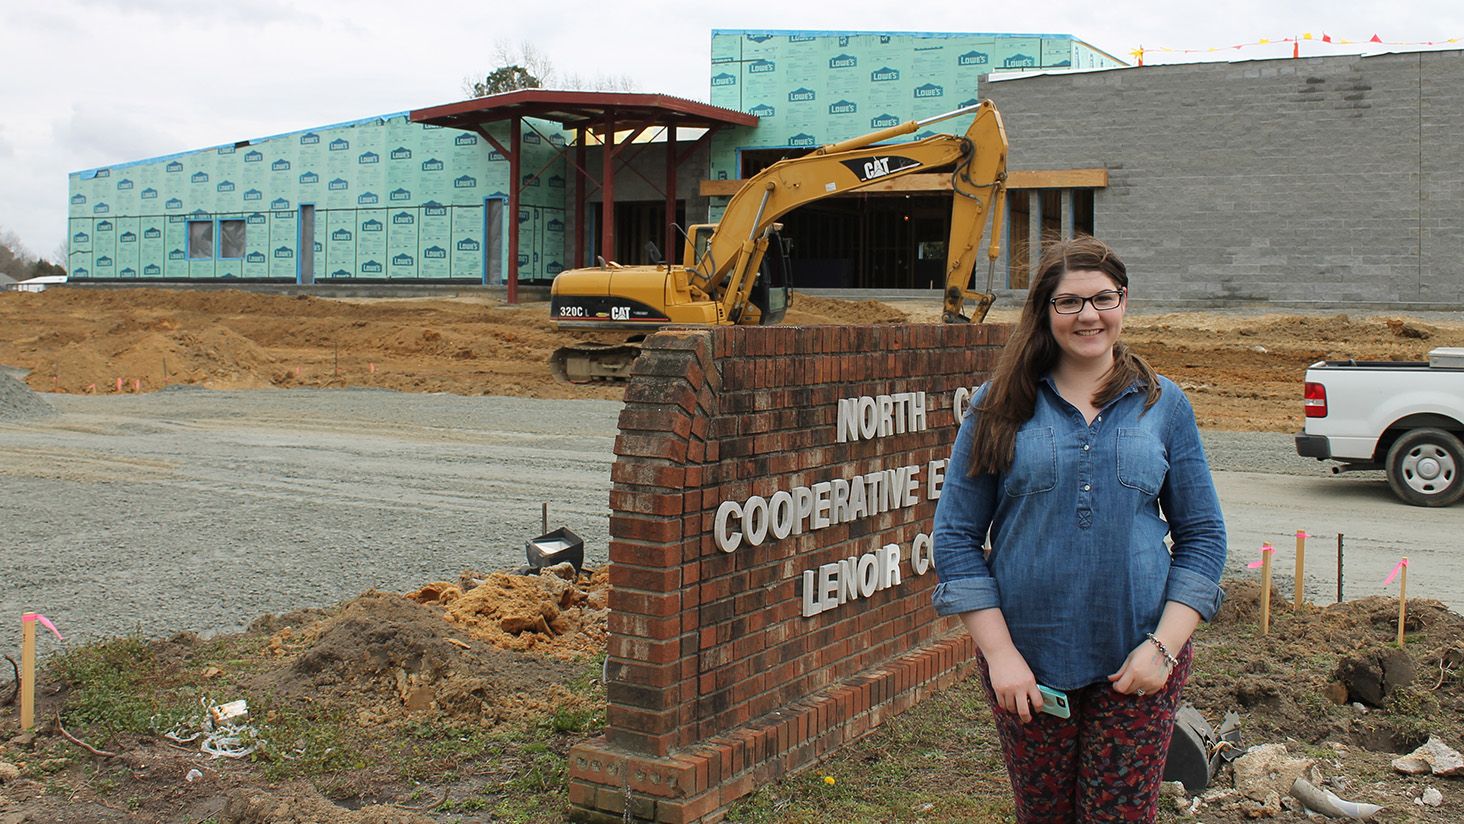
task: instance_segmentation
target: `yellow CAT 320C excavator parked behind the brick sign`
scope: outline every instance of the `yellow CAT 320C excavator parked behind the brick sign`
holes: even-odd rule
[[[965,135],[880,145],[965,114],[975,114]],[[555,277],[549,316],[558,328],[627,329],[637,337],[624,344],[562,347],[550,357],[550,367],[561,381],[577,383],[625,379],[640,354],[638,340],[660,326],[782,321],[792,288],[777,218],[821,198],[941,167],[952,168],[941,319],[979,323],[993,301],[991,277],[1000,253],[1006,202],[1006,158],[1001,116],[991,101],[982,101],[782,160],[750,177],[728,202],[719,222],[690,227],[682,265],[622,266],[602,261],[596,268],[568,269]],[[987,291],[972,291],[978,246],[993,208]],[[969,316],[962,312],[968,300],[974,301]]]

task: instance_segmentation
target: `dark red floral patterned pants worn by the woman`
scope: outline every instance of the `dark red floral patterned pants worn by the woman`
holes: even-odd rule
[[[1067,694],[1070,717],[1037,713],[1026,724],[997,705],[987,662],[978,654],[981,683],[1016,793],[1016,820],[1154,821],[1174,713],[1193,654],[1193,647],[1184,644],[1180,664],[1157,695],[1123,695],[1102,681]]]

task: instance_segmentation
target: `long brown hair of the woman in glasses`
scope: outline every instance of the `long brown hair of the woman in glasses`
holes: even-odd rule
[[[1038,262],[1037,282],[1026,294],[1022,318],[1012,340],[1001,351],[991,386],[976,405],[976,433],[971,448],[971,474],[1004,473],[1016,455],[1016,432],[1037,410],[1039,382],[1054,366],[1061,350],[1053,338],[1048,315],[1053,294],[1063,275],[1075,271],[1097,271],[1108,275],[1118,287],[1129,287],[1129,269],[1107,243],[1079,236],[1051,243]],[[1094,397],[1098,407],[1117,398],[1130,383],[1142,383],[1148,410],[1159,400],[1159,381],[1142,357],[1123,342],[1113,347],[1113,367]]]

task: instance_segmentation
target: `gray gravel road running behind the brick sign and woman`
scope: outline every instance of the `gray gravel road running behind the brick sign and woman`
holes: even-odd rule
[[[0,420],[0,616],[44,612],[78,640],[234,631],[370,587],[514,568],[540,531],[542,502],[550,528],[586,539],[589,565],[606,561],[615,401],[316,389],[44,397],[60,414]],[[1345,484],[1348,508],[1378,511],[1373,566],[1386,563],[1391,520],[1423,517],[1444,536],[1457,518],[1391,501],[1379,473],[1329,479],[1288,435],[1205,439],[1233,521],[1233,574],[1244,574],[1255,536],[1325,527],[1274,511],[1247,520],[1252,505],[1239,501],[1258,479],[1275,487],[1268,506],[1299,484],[1323,495]],[[1362,527],[1348,528],[1357,552],[1370,552]],[[1309,588],[1326,590],[1329,575]],[[1417,594],[1464,606],[1464,588]]]

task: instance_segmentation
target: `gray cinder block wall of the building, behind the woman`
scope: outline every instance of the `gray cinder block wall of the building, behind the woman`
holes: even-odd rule
[[[1464,307],[1464,51],[985,85],[1012,168],[1105,167],[1094,233],[1159,303]]]

